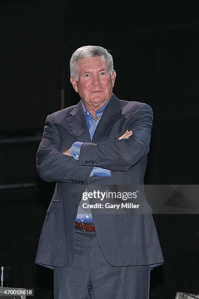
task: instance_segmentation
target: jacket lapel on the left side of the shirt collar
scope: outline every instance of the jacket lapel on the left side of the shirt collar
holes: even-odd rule
[[[81,100],[66,118],[77,141],[91,142],[88,125],[83,113]]]

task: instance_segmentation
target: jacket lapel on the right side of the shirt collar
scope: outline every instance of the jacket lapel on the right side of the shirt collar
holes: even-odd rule
[[[121,104],[119,102],[119,99],[115,96],[115,94],[112,94],[108,105],[103,111],[98,127],[95,130],[92,142],[98,143],[100,141],[103,141],[107,136],[110,128],[112,127],[116,119],[119,118],[120,115]]]

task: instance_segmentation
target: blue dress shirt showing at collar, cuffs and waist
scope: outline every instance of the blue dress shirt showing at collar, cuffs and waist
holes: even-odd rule
[[[95,130],[96,130],[96,128],[97,128],[97,126],[100,122],[101,115],[102,115],[105,107],[108,105],[108,102],[96,111],[96,116],[98,118],[97,120],[95,120],[94,117],[92,116],[92,114],[86,110],[85,106],[83,105],[83,102],[81,102],[81,104],[82,104],[83,112],[84,112],[85,117],[86,117],[86,122],[87,122],[87,125],[88,125],[90,137],[91,137],[91,140],[92,140],[93,135],[95,133]],[[83,142],[77,141],[77,142],[74,142],[72,147],[71,147],[70,153],[74,157],[74,159],[76,159],[76,160],[79,160],[80,149],[81,149],[82,144],[83,144]],[[94,176],[94,175],[110,177],[111,172],[107,169],[103,169],[103,168],[94,166],[93,170],[90,173],[90,177]],[[80,203],[81,202],[82,202],[82,199],[81,199]],[[76,221],[84,222],[84,223],[93,223],[93,217],[92,217],[91,209],[83,209],[81,206],[82,205],[80,204]]]

